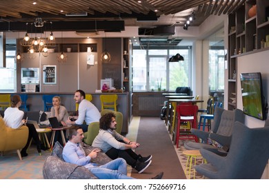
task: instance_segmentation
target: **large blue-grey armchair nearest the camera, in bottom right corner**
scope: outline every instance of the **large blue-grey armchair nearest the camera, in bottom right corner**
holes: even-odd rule
[[[261,179],[269,159],[269,127],[248,128],[236,122],[227,156],[201,149],[207,164],[195,169],[209,179]]]

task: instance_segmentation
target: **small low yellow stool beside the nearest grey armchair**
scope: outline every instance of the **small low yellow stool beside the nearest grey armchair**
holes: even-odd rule
[[[187,176],[187,170],[188,170],[188,179],[190,179],[190,173],[192,172],[192,159],[194,166],[196,165],[196,159],[197,157],[201,157],[201,153],[199,150],[186,150],[182,152],[184,155],[187,156],[187,162],[185,167],[185,174]],[[207,163],[206,159],[202,159],[202,163]],[[193,168],[193,179],[195,179],[195,167]]]

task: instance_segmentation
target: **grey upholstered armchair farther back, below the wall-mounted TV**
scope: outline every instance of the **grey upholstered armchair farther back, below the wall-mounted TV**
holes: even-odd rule
[[[214,121],[210,132],[202,130],[191,130],[193,134],[203,140],[203,143],[195,143],[187,141],[184,147],[187,150],[199,150],[201,148],[215,148],[215,146],[207,143],[208,139],[217,141],[222,146],[229,148],[232,139],[232,130],[236,121],[244,123],[245,116],[243,111],[239,109],[224,110],[223,108],[216,107]]]

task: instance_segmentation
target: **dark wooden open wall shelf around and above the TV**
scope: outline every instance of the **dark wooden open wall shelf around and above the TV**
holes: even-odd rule
[[[257,5],[254,17],[248,16],[252,6]],[[269,1],[247,1],[236,12],[228,16],[228,110],[237,108],[237,101],[230,102],[231,97],[237,99],[237,58],[269,50]],[[268,43],[261,43],[266,41]],[[234,79],[233,74],[236,73]]]

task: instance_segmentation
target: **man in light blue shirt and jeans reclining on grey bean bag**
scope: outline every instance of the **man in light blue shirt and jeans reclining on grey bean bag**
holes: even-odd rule
[[[83,165],[99,179],[134,179],[127,176],[127,164],[124,159],[114,159],[105,165],[99,166],[90,163],[91,159],[97,157],[100,150],[94,149],[86,156],[80,144],[84,137],[83,130],[79,126],[74,125],[68,128],[67,132],[69,141],[63,148],[63,159],[66,162]],[[163,172],[152,179],[161,179],[162,176]]]

